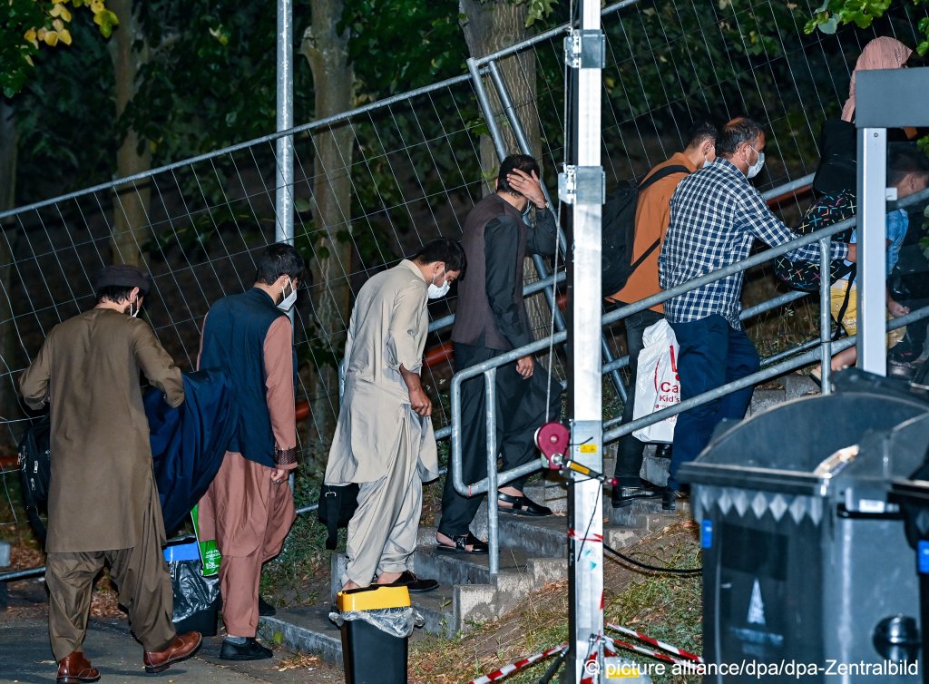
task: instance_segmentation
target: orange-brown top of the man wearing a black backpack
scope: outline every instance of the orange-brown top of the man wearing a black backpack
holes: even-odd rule
[[[664,166],[687,166],[691,172],[696,171],[694,164],[687,159],[684,152],[676,152],[671,159],[662,162],[648,172],[648,176]],[[609,296],[624,304],[635,304],[647,296],[657,295],[661,292],[658,285],[658,257],[661,255],[661,246],[664,244],[664,233],[671,223],[671,195],[681,182],[685,174],[670,174],[655,181],[639,195],[638,204],[635,205],[635,244],[633,245],[632,261],[645,254],[648,247],[660,240],[658,249],[652,251],[648,258],[634,270],[625,286],[619,292]],[[664,305],[656,304],[651,308],[658,313],[664,313]]]

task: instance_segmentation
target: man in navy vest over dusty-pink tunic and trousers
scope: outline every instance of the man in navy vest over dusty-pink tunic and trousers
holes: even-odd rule
[[[200,368],[219,368],[240,405],[239,427],[200,503],[201,533],[222,554],[224,660],[270,658],[255,640],[261,566],[281,552],[294,522],[287,475],[296,467],[293,326],[286,311],[306,263],[289,244],[259,257],[255,285],[218,300],[203,323]]]

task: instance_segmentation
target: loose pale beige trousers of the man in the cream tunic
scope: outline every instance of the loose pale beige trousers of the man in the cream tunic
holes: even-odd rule
[[[423,510],[419,459],[398,458],[383,478],[362,482],[358,510],[348,523],[347,566],[342,584],[367,586],[381,572],[403,572],[416,550]]]

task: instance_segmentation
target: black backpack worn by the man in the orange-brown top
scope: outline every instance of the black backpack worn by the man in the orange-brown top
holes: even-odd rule
[[[648,255],[658,249],[661,242],[656,240],[641,257],[633,262],[635,207],[638,205],[639,194],[661,178],[671,176],[671,174],[687,173],[690,173],[687,166],[679,164],[665,166],[638,185],[632,181],[624,183],[608,197],[607,204],[603,205],[601,236],[603,296],[610,296],[622,290],[633,271],[648,258]]]

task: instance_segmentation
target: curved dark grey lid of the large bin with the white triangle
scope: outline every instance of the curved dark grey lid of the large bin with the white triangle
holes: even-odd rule
[[[721,426],[678,479],[768,492],[819,494],[826,484],[872,479],[887,482],[915,468],[914,454],[874,457],[874,439],[909,419],[929,414],[916,398],[877,392],[813,395],[786,401],[762,414]],[[860,453],[826,474],[817,468],[841,450]],[[893,456],[893,454],[891,454]],[[919,454],[922,460],[922,454]],[[836,459],[837,461],[841,459]],[[888,485],[884,485],[889,486]]]

